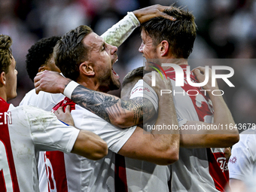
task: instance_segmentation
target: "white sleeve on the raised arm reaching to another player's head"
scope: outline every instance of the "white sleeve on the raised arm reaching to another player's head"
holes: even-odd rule
[[[128,12],[122,20],[114,24],[114,26],[103,33],[101,37],[108,44],[119,47],[139,25],[139,20],[133,12]]]

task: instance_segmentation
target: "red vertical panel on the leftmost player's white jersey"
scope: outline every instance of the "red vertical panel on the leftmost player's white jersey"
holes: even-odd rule
[[[0,192],[6,191],[6,188],[12,188],[14,192],[20,192],[20,187],[17,181],[17,174],[14,165],[13,152],[11,149],[11,141],[7,120],[8,117],[5,116],[5,113],[8,112],[9,105],[10,104],[5,102],[5,100],[0,98],[0,142],[2,145],[0,151],[0,171],[2,172],[2,174],[0,174],[0,181],[2,182],[2,187],[0,187]],[[10,176],[11,181],[6,179],[10,178]]]

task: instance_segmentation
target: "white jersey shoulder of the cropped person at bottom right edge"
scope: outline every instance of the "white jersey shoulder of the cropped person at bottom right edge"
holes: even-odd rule
[[[256,130],[245,130],[233,145],[228,167],[230,178],[247,181],[256,173]]]

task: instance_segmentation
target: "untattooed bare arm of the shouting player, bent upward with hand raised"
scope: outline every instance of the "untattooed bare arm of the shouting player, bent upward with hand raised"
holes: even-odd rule
[[[148,75],[145,75],[143,79],[146,83],[151,84]],[[157,74],[156,81],[156,84],[160,85],[160,89],[172,89],[169,79],[162,81],[159,74]],[[160,89],[156,90],[159,97],[159,110],[155,127],[161,126],[163,128],[163,125],[175,125],[178,127],[172,94],[160,96]],[[151,163],[166,165],[178,160],[178,150],[178,129],[153,129],[151,133],[148,133],[137,127],[118,154],[139,160],[147,160]]]

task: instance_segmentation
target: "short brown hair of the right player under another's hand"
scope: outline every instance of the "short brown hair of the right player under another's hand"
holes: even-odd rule
[[[172,7],[163,11],[175,17],[176,20],[168,20],[163,17],[155,17],[148,22],[142,23],[141,29],[149,35],[153,44],[157,46],[161,41],[166,40],[172,50],[172,54],[177,58],[184,58],[190,55],[194,47],[197,36],[197,25],[195,17],[188,11],[181,8]]]

